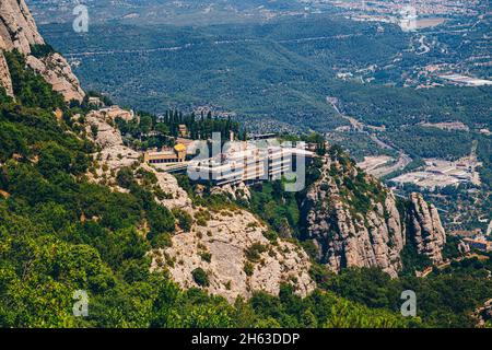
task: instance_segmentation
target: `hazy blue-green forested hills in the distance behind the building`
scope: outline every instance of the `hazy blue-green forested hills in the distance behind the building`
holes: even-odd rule
[[[63,25],[48,25],[45,32],[66,54],[114,51],[90,59],[78,56],[83,65],[77,72],[93,89],[112,86],[107,92],[118,100],[148,110],[164,110],[169,102],[181,107],[213,104],[247,116],[254,120],[251,125],[273,117],[300,128],[326,131],[347,125],[326,103],[326,96],[333,96],[348,116],[368,125],[398,128],[421,121],[460,120],[470,127],[490,126],[490,88],[403,88],[401,81],[410,72],[418,73],[435,61],[442,63],[449,59],[448,54],[437,49],[429,56],[410,52],[412,34],[397,26],[382,26],[383,33],[376,23],[321,15],[199,28],[105,24],[93,26],[93,38],[69,35]],[[448,35],[438,35],[438,40],[448,40],[448,48],[454,47],[452,60],[462,60],[464,51],[481,46],[464,47],[460,37]],[[211,45],[214,40],[227,45]],[[139,55],[118,51],[120,47],[136,47],[134,43],[144,51],[143,63]],[[165,47],[180,49],[155,50]],[[402,58],[395,63],[399,55]],[[341,67],[352,73],[355,67],[366,71],[373,67],[375,81],[391,86],[361,84],[355,78],[341,81],[336,79]],[[119,73],[116,78],[115,71]],[[378,71],[391,75],[379,77]],[[142,80],[151,83],[142,86]]]

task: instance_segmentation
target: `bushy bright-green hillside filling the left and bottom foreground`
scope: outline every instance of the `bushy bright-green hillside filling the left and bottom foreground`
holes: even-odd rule
[[[301,300],[257,293],[230,305],[150,272],[147,253],[174,233],[178,213],[119,174],[128,192],[86,177],[95,147],[59,95],[9,55],[15,101],[0,91],[0,326],[2,327],[408,327],[419,319],[317,291]],[[60,108],[60,115],[55,112]],[[77,109],[80,113],[80,108]],[[145,177],[145,174],[141,174]],[[152,183],[152,179],[149,179]],[[143,185],[138,185],[143,184]],[[72,315],[73,293],[90,298]]]

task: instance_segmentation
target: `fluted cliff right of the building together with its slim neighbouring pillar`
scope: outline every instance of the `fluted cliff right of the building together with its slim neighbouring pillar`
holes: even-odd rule
[[[437,210],[417,194],[403,207],[398,210],[394,194],[349,159],[327,156],[302,205],[305,235],[317,246],[318,260],[336,272],[376,267],[395,278],[407,240],[418,254],[441,262],[446,234]]]

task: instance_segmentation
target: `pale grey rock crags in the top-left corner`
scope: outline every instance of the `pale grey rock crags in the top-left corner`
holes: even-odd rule
[[[84,92],[79,80],[72,73],[67,60],[57,52],[36,58],[32,54],[32,45],[45,45],[36,23],[24,0],[0,1],[0,49],[16,49],[26,57],[27,65],[42,74],[54,90],[63,95],[67,102],[82,101]],[[10,77],[7,65],[0,58],[0,82],[9,91]]]

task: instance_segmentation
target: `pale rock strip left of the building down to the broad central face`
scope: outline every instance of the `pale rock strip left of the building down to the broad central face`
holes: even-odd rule
[[[315,289],[309,277],[309,258],[301,247],[282,240],[270,242],[265,236],[268,229],[243,209],[211,211],[195,207],[177,179],[141,163],[140,154],[124,144],[112,119],[98,110],[85,117],[85,130],[99,148],[94,154],[98,163],[96,174],[89,174],[93,182],[104,179],[115,190],[125,191],[116,185],[118,171],[143,168],[155,175],[156,185],[166,195],[164,199],[155,198],[159,203],[195,218],[188,232],[172,237],[171,247],[150,253],[153,270],[166,269],[181,287],[191,288],[199,287],[192,271],[200,267],[209,276],[207,291],[230,302],[239,295],[247,299],[254,291],[278,294],[282,283],[292,284],[303,296]],[[235,187],[234,192],[249,194],[244,185]],[[203,258],[204,254],[210,255],[208,259]]]

